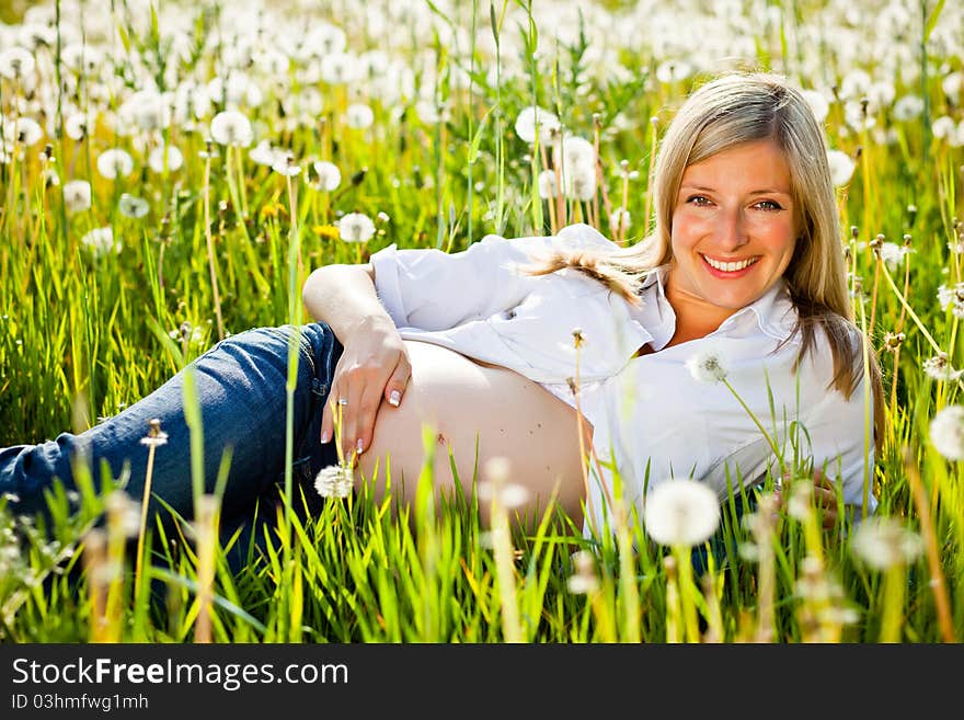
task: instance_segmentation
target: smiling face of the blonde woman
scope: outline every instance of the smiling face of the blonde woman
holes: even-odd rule
[[[667,294],[715,328],[767,293],[796,247],[790,169],[773,140],[755,140],[686,168],[673,210]]]

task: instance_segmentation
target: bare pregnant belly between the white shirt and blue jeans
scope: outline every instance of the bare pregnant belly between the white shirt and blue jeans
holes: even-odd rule
[[[584,484],[576,411],[513,370],[479,364],[439,345],[405,345],[412,377],[402,403],[392,408],[382,401],[371,445],[358,461],[363,477],[374,479],[376,496],[385,492],[388,456],[392,495],[414,500],[425,457],[422,428],[427,424],[436,488],[454,489],[449,452],[467,496],[477,461],[482,483],[486,460],[503,457],[509,461],[509,480],[529,491],[520,513],[538,514],[538,521],[554,492],[555,501],[581,524]],[[592,431],[585,421],[583,425],[588,442]],[[487,515],[486,503],[480,503],[480,510]]]

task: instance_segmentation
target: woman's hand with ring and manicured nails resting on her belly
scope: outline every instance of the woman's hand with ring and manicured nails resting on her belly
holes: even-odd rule
[[[398,407],[412,376],[409,353],[388,318],[369,317],[347,333],[321,419],[321,442],[334,437],[335,413],[345,461],[371,444],[382,399]]]

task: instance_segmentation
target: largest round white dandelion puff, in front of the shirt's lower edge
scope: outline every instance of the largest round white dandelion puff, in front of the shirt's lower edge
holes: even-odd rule
[[[688,478],[667,480],[645,500],[646,534],[661,545],[693,547],[708,540],[720,524],[720,502],[707,485]]]

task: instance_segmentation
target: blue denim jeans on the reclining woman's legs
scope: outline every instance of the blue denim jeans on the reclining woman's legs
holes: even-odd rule
[[[232,450],[230,472],[221,505],[222,528],[250,525],[257,504],[266,518],[283,500],[285,475],[285,384],[288,338],[295,329],[259,328],[220,341],[198,357],[194,368],[204,427],[204,482],[211,492],[221,456]],[[300,333],[298,382],[294,403],[294,478],[315,508],[321,499],[312,487],[318,471],[337,462],[333,442],[320,443],[321,415],[342,345],[326,324],[303,325]],[[148,448],[140,441],[149,421],[159,419],[168,442],[154,452],[150,508],[161,517],[163,500],[186,518],[193,516],[191,431],[184,415],[184,370],[119,414],[74,435],[38,445],[0,449],[0,493],[15,498],[16,513],[45,513],[44,491],[59,479],[66,490],[76,488],[71,464],[83,454],[91,461],[96,487],[101,464],[116,478],[129,468],[127,492],[144,495]],[[282,492],[279,492],[279,488]],[[301,505],[296,484],[294,502]],[[264,506],[264,507],[262,507]]]

